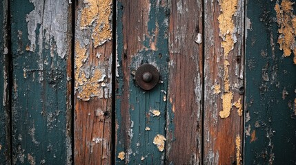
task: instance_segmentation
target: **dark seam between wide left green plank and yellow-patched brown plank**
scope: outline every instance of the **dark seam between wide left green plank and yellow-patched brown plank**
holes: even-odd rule
[[[75,27],[76,27],[76,18],[75,18],[75,7],[76,0],[72,1],[72,45],[71,45],[71,134],[72,134],[72,164],[75,164],[75,153],[74,153],[74,144],[75,144],[75,131],[74,131],[74,121],[75,121]]]

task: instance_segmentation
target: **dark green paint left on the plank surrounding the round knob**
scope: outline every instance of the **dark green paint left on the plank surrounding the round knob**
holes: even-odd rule
[[[150,1],[150,13],[148,19],[148,33],[153,35],[156,25],[159,25],[159,35],[157,37],[157,50],[139,50],[137,54],[126,54],[133,56],[129,65],[130,80],[129,80],[129,98],[128,98],[128,113],[130,129],[125,130],[122,126],[123,116],[121,114],[121,99],[124,94],[124,75],[122,70],[122,63],[125,61],[124,57],[124,36],[122,16],[125,11],[125,6],[117,1],[117,52],[119,59],[119,77],[118,89],[116,92],[116,120],[118,124],[117,129],[117,146],[115,159],[116,164],[125,164],[129,159],[129,164],[161,164],[164,163],[165,150],[160,152],[157,146],[153,144],[153,140],[157,134],[166,137],[166,104],[164,96],[167,95],[168,84],[168,11],[166,7],[156,6],[156,1]],[[136,43],[137,41],[135,41]],[[145,47],[150,47],[149,39],[142,43]],[[161,56],[160,56],[161,54]],[[150,91],[144,91],[137,86],[132,72],[135,72],[137,67],[143,63],[150,63],[159,69],[161,75],[160,81],[155,88]],[[121,99],[119,99],[121,97]],[[167,96],[166,96],[167,97]],[[153,109],[159,110],[161,115],[154,116],[151,111]],[[149,117],[148,117],[149,116]],[[150,131],[145,131],[146,126]],[[130,144],[126,144],[127,140],[124,137],[124,132],[128,133],[131,139]],[[121,161],[117,158],[118,153],[124,151],[126,159]],[[130,153],[130,154],[129,154]],[[144,157],[144,160],[141,160]]]

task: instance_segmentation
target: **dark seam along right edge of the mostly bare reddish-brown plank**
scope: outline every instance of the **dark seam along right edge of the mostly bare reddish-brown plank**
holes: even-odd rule
[[[205,83],[204,83],[204,72],[205,72],[205,61],[204,61],[204,50],[205,50],[205,42],[206,42],[206,37],[205,37],[205,23],[204,23],[204,14],[205,14],[205,9],[204,9],[204,1],[201,1],[201,19],[202,19],[202,56],[201,56],[201,68],[202,68],[202,89],[201,89],[201,162],[199,164],[204,164],[204,89],[205,89]]]

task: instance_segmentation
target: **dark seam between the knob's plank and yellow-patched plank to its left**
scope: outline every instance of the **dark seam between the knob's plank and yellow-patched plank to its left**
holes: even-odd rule
[[[115,113],[116,113],[116,6],[117,1],[112,0],[112,112],[111,112],[111,164],[115,164],[115,140],[116,140],[116,129],[115,129]]]

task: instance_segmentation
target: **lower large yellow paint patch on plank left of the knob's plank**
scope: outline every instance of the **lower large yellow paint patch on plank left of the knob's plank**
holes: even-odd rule
[[[97,67],[92,70],[86,69],[87,61],[86,48],[80,47],[79,43],[75,44],[75,92],[81,100],[87,101],[91,97],[101,96],[103,89],[101,83],[106,76],[104,70]],[[86,76],[86,71],[89,76]]]

